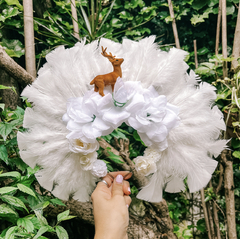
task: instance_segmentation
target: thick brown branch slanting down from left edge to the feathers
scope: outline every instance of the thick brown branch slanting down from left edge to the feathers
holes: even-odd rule
[[[0,46],[0,67],[5,70],[10,76],[16,79],[20,84],[31,84],[34,77],[18,65]]]

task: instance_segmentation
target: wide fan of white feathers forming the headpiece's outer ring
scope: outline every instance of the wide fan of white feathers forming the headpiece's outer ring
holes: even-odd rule
[[[194,72],[187,73],[188,66],[184,62],[186,52],[175,48],[163,52],[154,44],[154,40],[155,37],[151,36],[139,42],[125,39],[119,44],[101,39],[100,42],[87,45],[82,41],[70,49],[58,47],[47,55],[47,63],[38,72],[35,82],[24,89],[22,95],[28,97],[33,108],[25,111],[24,127],[27,131],[18,133],[20,154],[31,167],[41,167],[36,177],[39,183],[55,196],[67,200],[69,195],[73,195],[74,199],[87,201],[97,180],[91,172],[96,162],[95,155],[80,161],[79,154],[82,154],[70,150],[69,134],[73,139],[80,137],[84,142],[94,144],[96,137],[111,132],[139,108],[131,91],[127,95],[124,95],[123,90],[117,91],[121,85],[114,92],[115,100],[120,103],[123,103],[121,99],[124,102],[129,100],[129,105],[125,105],[119,122],[112,118],[116,114],[116,108],[111,108],[109,104],[112,94],[107,96],[110,92],[108,87],[104,91],[106,98],[95,95],[99,99],[99,107],[91,100],[84,101],[87,92],[92,91],[89,84],[92,79],[112,71],[109,61],[101,55],[101,46],[107,47],[108,51],[117,57],[124,58],[121,66],[125,84],[133,81],[137,85],[141,82],[141,87],[145,90],[153,87],[157,94],[154,93],[153,96],[166,98],[164,102],[167,102],[169,112],[167,120],[171,121],[174,115],[179,117],[178,126],[173,124],[170,128],[165,127],[167,129],[162,126],[167,133],[158,149],[162,151],[161,157],[155,162],[156,168],[152,171],[156,169],[156,172],[138,197],[159,202],[163,188],[168,192],[181,191],[186,177],[191,192],[208,183],[217,165],[211,155],[216,157],[226,145],[226,141],[218,140],[225,125],[221,112],[213,106],[215,88],[200,82]],[[71,110],[67,112],[67,104],[74,104],[77,99],[81,115],[75,115]],[[139,94],[137,102],[141,101],[146,100]],[[83,102],[89,108],[84,108]],[[134,105],[136,107],[133,107]],[[94,114],[89,113],[89,109],[94,111]],[[108,114],[101,120],[104,112]],[[152,117],[155,113],[160,114],[155,111],[152,113]],[[145,122],[143,112],[135,115]],[[88,122],[87,125],[84,124],[85,128],[83,122]],[[155,129],[157,132],[158,128]],[[147,135],[142,134],[144,135],[141,137]],[[155,138],[153,133],[149,132],[145,140],[151,141],[151,137]],[[157,137],[160,137],[159,134]],[[91,140],[88,141],[89,138]],[[86,167],[91,165],[91,170],[84,170],[81,162],[86,163]]]

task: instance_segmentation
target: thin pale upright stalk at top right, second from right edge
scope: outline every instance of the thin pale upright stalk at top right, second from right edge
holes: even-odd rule
[[[227,58],[227,9],[226,0],[222,1],[222,53]],[[228,76],[227,61],[223,61],[223,78]]]

